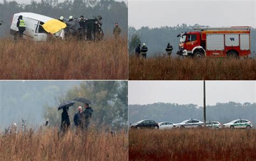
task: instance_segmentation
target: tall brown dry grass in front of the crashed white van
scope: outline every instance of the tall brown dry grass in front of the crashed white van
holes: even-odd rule
[[[127,38],[0,40],[0,79],[127,79]]]

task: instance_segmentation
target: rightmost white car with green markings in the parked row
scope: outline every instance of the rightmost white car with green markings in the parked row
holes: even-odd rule
[[[225,123],[223,124],[224,128],[230,128],[230,129],[250,129],[252,128],[252,122],[248,121],[248,120],[242,120],[242,119],[238,119],[238,120],[233,120],[229,123]]]

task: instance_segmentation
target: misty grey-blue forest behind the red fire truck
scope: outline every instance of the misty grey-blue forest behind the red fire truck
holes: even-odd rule
[[[136,30],[134,27],[129,26],[129,44],[131,43],[131,37],[133,34],[138,34],[140,36],[140,41],[142,43],[145,43],[147,48],[149,49],[148,56],[152,57],[154,55],[165,53],[165,48],[167,43],[170,43],[173,46],[173,54],[172,56],[177,56],[176,52],[178,51],[179,47],[179,38],[177,38],[177,35],[181,32],[185,31],[192,31],[194,27],[197,26],[204,26],[204,25],[187,25],[187,24],[181,24],[177,26],[163,26],[163,27],[156,27],[156,28],[150,28],[150,27],[142,27],[138,30]],[[130,49],[130,48],[129,48]],[[251,30],[251,51],[252,53],[256,53],[256,29]],[[133,50],[129,50],[129,53],[133,53]],[[256,54],[251,54],[251,57],[255,57]]]

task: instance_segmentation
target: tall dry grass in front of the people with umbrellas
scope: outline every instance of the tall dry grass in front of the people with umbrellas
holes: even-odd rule
[[[87,133],[57,129],[18,131],[0,136],[0,160],[128,160],[124,131]]]

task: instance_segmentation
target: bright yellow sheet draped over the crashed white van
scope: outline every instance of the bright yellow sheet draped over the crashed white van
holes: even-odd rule
[[[51,19],[45,24],[43,24],[43,28],[46,32],[49,32],[51,34],[54,34],[58,32],[59,30],[62,30],[66,27],[66,24],[63,22],[60,22],[57,19]]]

